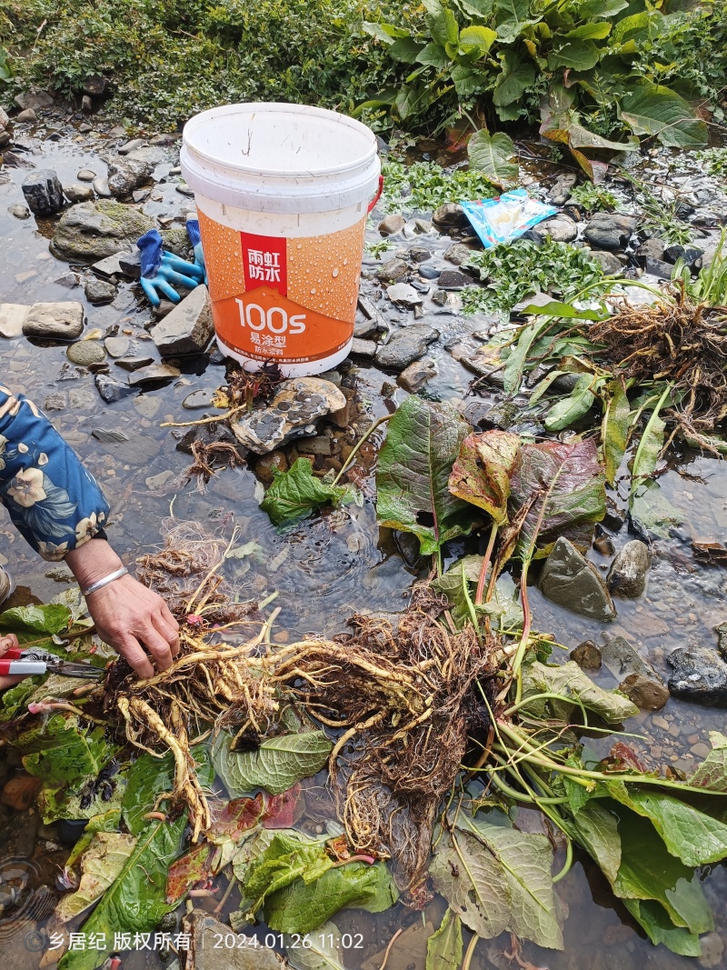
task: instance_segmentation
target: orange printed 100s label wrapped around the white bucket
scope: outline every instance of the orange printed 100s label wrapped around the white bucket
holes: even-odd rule
[[[241,233],[200,212],[217,337],[252,360],[305,363],[353,336],[365,219],[328,236]]]

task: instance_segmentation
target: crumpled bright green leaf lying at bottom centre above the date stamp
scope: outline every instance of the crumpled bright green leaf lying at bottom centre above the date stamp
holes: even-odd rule
[[[383,913],[398,899],[384,862],[349,862],[329,869],[311,885],[299,879],[266,901],[264,915],[270,929],[281,933],[309,933],[344,907]]]

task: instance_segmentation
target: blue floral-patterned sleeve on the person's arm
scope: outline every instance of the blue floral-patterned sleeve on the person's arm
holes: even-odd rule
[[[0,387],[0,501],[44,559],[99,533],[109,503],[76,452],[35,404]]]

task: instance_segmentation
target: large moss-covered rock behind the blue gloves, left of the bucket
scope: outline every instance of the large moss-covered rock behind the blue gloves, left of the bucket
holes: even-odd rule
[[[154,220],[130,206],[102,199],[81,202],[63,213],[51,242],[54,255],[68,262],[95,262],[130,249],[154,228]]]

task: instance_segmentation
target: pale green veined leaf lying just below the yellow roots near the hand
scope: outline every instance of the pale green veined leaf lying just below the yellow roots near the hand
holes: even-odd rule
[[[321,730],[283,734],[263,741],[255,751],[230,750],[232,736],[220,731],[212,746],[217,774],[232,797],[265,789],[280,794],[325,765],[332,743]]]

